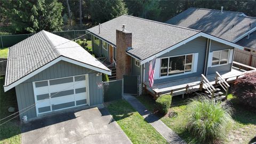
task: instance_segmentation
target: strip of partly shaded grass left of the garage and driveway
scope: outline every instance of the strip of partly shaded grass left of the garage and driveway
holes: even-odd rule
[[[0,119],[2,119],[11,115],[11,113],[8,112],[9,107],[15,107],[16,109],[18,108],[15,90],[11,89],[7,92],[4,92],[3,76],[0,77],[0,85]],[[3,122],[5,122],[5,120]],[[1,121],[1,123],[3,122]],[[0,126],[0,143],[21,143],[20,125],[18,118],[14,118],[10,122]]]

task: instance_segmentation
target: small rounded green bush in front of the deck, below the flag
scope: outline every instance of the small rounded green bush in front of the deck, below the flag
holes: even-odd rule
[[[166,115],[169,108],[171,107],[172,96],[170,94],[162,95],[156,100],[156,105],[159,112]]]

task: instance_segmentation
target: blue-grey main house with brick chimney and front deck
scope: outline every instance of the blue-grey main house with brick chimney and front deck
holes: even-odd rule
[[[232,67],[233,55],[234,48],[244,47],[203,31],[130,15],[87,30],[92,34],[93,53],[114,63],[117,79],[139,75],[141,84],[155,95],[199,85],[202,74],[212,77],[216,71],[222,75],[241,73]],[[153,59],[154,85],[150,87],[148,71]]]

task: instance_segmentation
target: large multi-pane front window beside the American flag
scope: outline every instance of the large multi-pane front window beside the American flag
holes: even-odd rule
[[[171,76],[191,72],[193,54],[161,59],[160,76]]]

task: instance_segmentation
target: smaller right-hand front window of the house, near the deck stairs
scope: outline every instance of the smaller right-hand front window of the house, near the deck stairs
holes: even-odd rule
[[[228,63],[229,50],[213,51],[212,66],[225,65]]]

